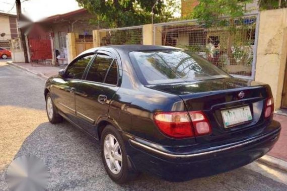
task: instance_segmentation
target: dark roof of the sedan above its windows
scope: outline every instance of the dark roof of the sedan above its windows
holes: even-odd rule
[[[180,48],[172,47],[172,46],[156,46],[156,45],[109,45],[109,46],[101,46],[97,48],[91,48],[84,52],[82,52],[80,55],[88,54],[88,53],[94,53],[95,51],[101,49],[101,48],[112,48],[120,52],[129,53],[131,51],[153,51],[153,50],[180,50]],[[79,55],[79,56],[80,56]]]

